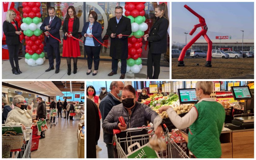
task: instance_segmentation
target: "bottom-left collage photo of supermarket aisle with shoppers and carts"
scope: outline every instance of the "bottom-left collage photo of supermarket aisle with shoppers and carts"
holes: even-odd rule
[[[2,81],[2,158],[84,158],[84,84]]]

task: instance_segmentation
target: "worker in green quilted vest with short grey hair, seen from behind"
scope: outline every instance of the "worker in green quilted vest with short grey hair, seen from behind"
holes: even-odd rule
[[[213,82],[199,81],[195,90],[199,101],[184,117],[181,118],[170,106],[162,106],[159,112],[167,111],[176,128],[189,127],[188,149],[191,158],[221,158],[219,137],[224,127],[225,110],[210,98]]]

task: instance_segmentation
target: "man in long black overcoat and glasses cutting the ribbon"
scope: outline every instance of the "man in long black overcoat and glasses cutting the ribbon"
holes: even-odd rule
[[[115,17],[110,18],[107,33],[110,36],[110,57],[112,57],[112,71],[108,76],[117,74],[118,60],[121,59],[121,76],[125,78],[126,59],[128,58],[128,37],[132,33],[131,20],[122,16],[123,7],[115,7]]]

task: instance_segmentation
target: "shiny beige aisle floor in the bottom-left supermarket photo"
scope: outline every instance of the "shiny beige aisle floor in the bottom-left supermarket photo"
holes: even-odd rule
[[[31,158],[78,158],[77,128],[79,122],[80,119],[70,121],[59,117],[56,126],[53,125],[50,128],[47,125],[45,138],[39,140],[38,150],[31,152]]]

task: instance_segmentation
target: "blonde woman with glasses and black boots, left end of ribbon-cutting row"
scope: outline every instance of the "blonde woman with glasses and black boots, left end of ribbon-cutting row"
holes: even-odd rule
[[[9,51],[9,61],[11,64],[11,71],[13,74],[22,73],[19,68],[19,50],[20,50],[20,37],[22,33],[18,27],[18,22],[14,19],[16,18],[16,13],[13,10],[8,10],[6,15],[6,20],[3,22],[3,33],[6,37],[6,44]],[[14,65],[14,62],[15,65]]]

